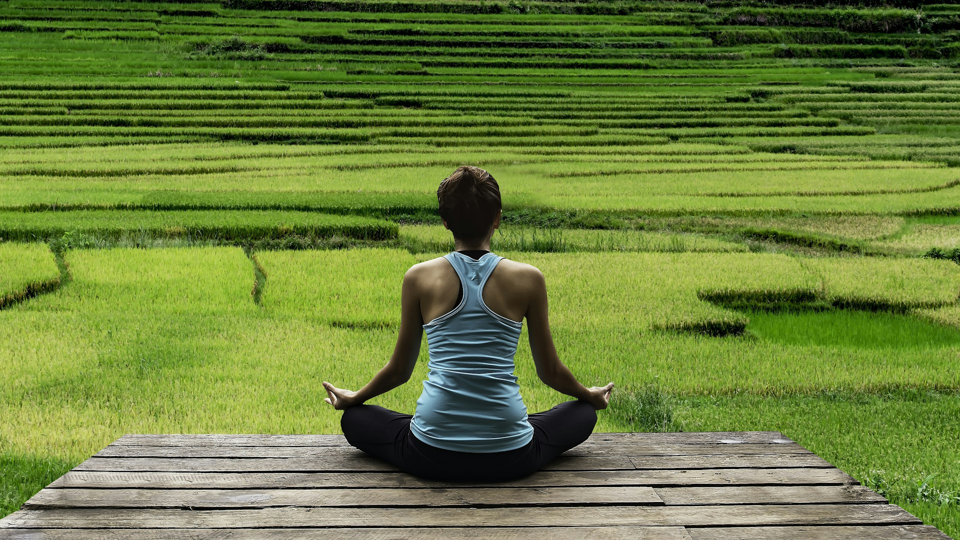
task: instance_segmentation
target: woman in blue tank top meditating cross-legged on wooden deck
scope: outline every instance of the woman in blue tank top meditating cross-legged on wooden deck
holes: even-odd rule
[[[407,271],[394,355],[356,392],[324,381],[324,401],[344,410],[350,445],[408,473],[445,481],[524,477],[587,439],[613,383],[587,388],[570,373],[550,335],[543,274],[490,252],[501,216],[490,173],[462,166],[437,198],[456,251]],[[527,415],[514,376],[524,317],[540,380],[576,401]],[[415,414],[362,405],[410,379],[424,330],[430,373]]]

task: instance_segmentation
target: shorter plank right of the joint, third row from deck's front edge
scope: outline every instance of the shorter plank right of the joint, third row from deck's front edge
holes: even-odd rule
[[[658,487],[666,504],[804,504],[886,503],[862,485],[769,485],[717,487]]]

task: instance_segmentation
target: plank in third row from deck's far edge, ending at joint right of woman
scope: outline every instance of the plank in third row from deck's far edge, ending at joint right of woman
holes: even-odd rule
[[[559,457],[544,471],[633,470],[627,456]],[[356,457],[90,457],[74,471],[114,472],[396,472],[395,466],[367,455]]]

